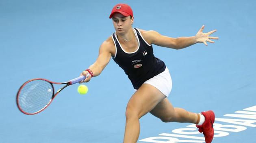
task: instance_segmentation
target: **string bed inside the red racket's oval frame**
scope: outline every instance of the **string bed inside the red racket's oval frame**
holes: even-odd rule
[[[21,90],[18,98],[20,108],[33,114],[44,109],[52,100],[53,88],[45,80],[28,82]]]

